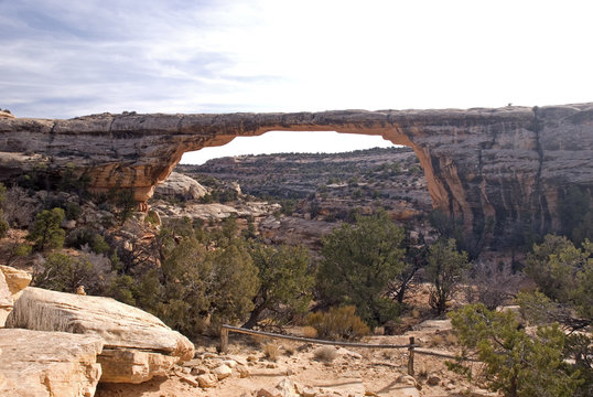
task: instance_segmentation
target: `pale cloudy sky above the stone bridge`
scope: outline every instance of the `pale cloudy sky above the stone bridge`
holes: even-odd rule
[[[0,0],[0,108],[69,118],[586,103],[591,15],[590,0]],[[290,136],[250,139],[293,151],[304,136]],[[315,137],[326,151],[353,136]]]

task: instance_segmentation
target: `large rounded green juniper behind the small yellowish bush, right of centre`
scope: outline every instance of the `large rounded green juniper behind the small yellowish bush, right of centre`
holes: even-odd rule
[[[402,271],[403,229],[387,213],[357,216],[355,225],[342,224],[323,239],[317,289],[327,307],[354,304],[368,324],[381,325],[397,318],[399,305],[387,289]]]

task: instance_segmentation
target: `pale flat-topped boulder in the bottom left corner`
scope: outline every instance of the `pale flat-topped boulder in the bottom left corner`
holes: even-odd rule
[[[0,396],[94,396],[101,347],[94,335],[2,329]]]

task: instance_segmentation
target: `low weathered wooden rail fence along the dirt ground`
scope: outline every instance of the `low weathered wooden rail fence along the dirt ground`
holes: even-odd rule
[[[363,348],[407,348],[408,350],[408,374],[411,376],[414,375],[414,369],[413,369],[414,353],[455,360],[455,356],[452,356],[449,354],[442,354],[442,353],[417,348],[418,345],[416,344],[416,340],[413,336],[410,336],[410,343],[405,344],[405,345],[368,344],[368,343],[354,343],[354,342],[324,341],[324,340],[317,340],[317,339],[312,339],[312,337],[281,335],[281,334],[265,332],[265,331],[246,330],[239,326],[233,326],[233,325],[226,325],[226,324],[223,324],[220,329],[220,352],[223,353],[226,353],[228,350],[228,333],[229,332],[236,332],[236,333],[241,333],[241,334],[247,334],[247,335],[261,335],[261,336],[267,336],[267,337],[272,337],[272,339],[282,339],[282,340],[288,340],[288,341],[298,341],[298,342],[333,345],[333,346],[363,347]],[[467,358],[467,361],[475,361],[475,360]]]

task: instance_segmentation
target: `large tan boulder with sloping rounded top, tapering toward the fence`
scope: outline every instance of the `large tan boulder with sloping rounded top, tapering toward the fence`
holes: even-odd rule
[[[161,320],[111,298],[26,288],[7,328],[100,336],[101,382],[142,383],[193,357],[193,344]]]

